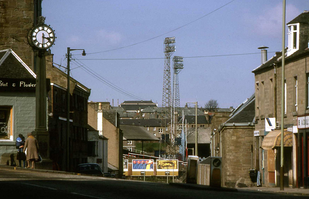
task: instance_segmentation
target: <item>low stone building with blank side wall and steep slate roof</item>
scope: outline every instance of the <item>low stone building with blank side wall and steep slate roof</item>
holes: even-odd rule
[[[218,128],[213,139],[213,156],[222,157],[222,186],[250,187],[249,169],[253,168],[253,131],[255,96],[240,104]]]

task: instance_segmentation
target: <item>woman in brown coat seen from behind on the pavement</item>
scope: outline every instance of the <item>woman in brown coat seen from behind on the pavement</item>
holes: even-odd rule
[[[32,136],[32,132],[27,134],[28,138],[26,140],[23,151],[27,149],[27,168],[30,168],[30,161],[32,162],[31,169],[35,169],[36,161],[39,160],[39,144],[38,141]]]

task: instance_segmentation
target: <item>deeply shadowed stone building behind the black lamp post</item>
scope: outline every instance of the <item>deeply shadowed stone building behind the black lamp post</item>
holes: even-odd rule
[[[48,93],[48,131],[50,136],[50,159],[54,169],[67,170],[65,155],[67,148],[67,74],[53,66],[53,55],[46,57],[46,77],[50,79],[51,90]],[[78,164],[87,163],[87,101],[91,89],[70,78],[70,135],[69,160],[70,171]]]

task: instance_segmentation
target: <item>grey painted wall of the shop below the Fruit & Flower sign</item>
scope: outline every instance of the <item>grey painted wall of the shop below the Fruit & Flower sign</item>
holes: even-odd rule
[[[27,137],[27,133],[35,129],[35,92],[2,92],[0,106],[13,107],[13,140],[0,140],[1,156],[3,153],[16,153],[15,140],[18,134]]]

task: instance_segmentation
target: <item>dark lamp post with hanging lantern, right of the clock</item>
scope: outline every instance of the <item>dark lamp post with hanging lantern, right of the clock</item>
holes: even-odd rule
[[[83,51],[82,55],[86,56],[85,50],[84,49],[70,49],[70,47],[68,47],[67,49],[67,89],[66,89],[66,94],[67,94],[67,109],[66,109],[66,170],[70,171],[70,51],[76,51],[76,50],[81,50]]]

